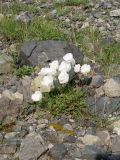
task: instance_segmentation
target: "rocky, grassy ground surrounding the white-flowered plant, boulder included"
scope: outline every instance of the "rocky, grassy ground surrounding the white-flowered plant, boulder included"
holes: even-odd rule
[[[120,160],[119,0],[2,0],[0,8],[0,160]],[[92,118],[28,105],[31,85],[39,87],[34,66],[68,52],[91,64],[76,84]]]

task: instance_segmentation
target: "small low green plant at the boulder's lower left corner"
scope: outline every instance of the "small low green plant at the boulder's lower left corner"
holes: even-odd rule
[[[21,68],[16,70],[17,77],[23,77],[25,75],[31,75],[34,72],[34,68],[30,66],[22,66]]]

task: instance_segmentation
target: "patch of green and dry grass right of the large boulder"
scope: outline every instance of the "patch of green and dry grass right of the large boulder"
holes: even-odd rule
[[[106,75],[109,75],[110,64],[120,64],[120,43],[105,43],[94,27],[87,27],[74,32],[73,43],[82,48],[85,55],[94,62],[101,64]]]

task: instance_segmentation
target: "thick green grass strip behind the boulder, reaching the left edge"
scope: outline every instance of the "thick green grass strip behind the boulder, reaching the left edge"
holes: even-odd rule
[[[4,18],[0,23],[0,33],[5,38],[18,42],[31,39],[66,39],[65,34],[55,22],[42,18],[35,18],[28,26],[22,22],[16,22],[13,18]]]

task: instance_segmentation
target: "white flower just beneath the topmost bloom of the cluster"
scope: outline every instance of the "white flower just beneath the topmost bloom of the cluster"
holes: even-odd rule
[[[59,71],[60,72],[62,72],[62,71],[69,72],[70,70],[71,70],[71,64],[67,63],[65,61],[62,61],[60,66],[59,66]]]

